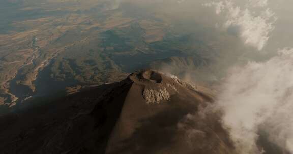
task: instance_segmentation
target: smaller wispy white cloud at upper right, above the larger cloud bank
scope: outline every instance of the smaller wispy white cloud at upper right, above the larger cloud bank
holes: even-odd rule
[[[265,7],[267,1],[259,0],[248,2],[247,8],[242,9],[231,0],[217,1],[205,4],[205,6],[214,6],[216,14],[224,14],[226,21],[223,26],[227,30],[237,29],[241,38],[248,45],[262,50],[269,40],[269,34],[274,30],[276,21],[275,14],[264,8],[259,13],[253,12],[250,8],[254,6]]]

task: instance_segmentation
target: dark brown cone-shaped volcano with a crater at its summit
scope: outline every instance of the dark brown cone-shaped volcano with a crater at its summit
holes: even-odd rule
[[[154,70],[0,117],[0,153],[235,153],[208,88]]]

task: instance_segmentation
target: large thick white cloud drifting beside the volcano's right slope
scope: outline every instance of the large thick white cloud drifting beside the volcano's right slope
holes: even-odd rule
[[[250,62],[231,71],[217,104],[238,153],[262,153],[259,130],[293,153],[293,50],[264,63]]]

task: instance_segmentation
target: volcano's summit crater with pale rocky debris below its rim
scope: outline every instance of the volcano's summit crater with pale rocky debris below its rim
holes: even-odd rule
[[[142,95],[148,104],[168,101],[171,95],[179,93],[178,89],[181,88],[195,91],[205,97],[206,101],[214,100],[213,92],[207,88],[202,90],[202,88],[198,88],[200,86],[183,82],[175,76],[167,76],[151,69],[137,71],[131,74],[129,79],[144,87]]]

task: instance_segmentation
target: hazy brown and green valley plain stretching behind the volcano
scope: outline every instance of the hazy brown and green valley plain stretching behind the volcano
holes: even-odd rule
[[[31,15],[11,18],[13,29],[0,33],[3,108],[120,81],[153,61],[209,49],[194,46],[192,35],[155,13],[129,15],[135,10],[111,9],[103,1],[33,2],[8,6]]]

